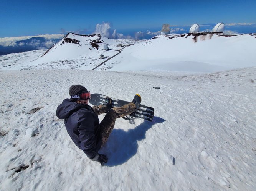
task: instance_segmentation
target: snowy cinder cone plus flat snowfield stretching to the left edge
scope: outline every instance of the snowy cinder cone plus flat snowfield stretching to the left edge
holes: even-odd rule
[[[36,68],[77,68],[91,70],[107,58],[119,53],[127,45],[144,42],[145,40],[118,39],[112,40],[100,34],[78,35],[68,33],[62,40],[49,50],[40,50],[41,55],[26,60],[20,64],[27,52],[0,56],[0,70],[28,70]],[[109,51],[104,50],[104,44],[109,44]],[[122,44],[123,47],[117,47]],[[33,51],[34,52],[34,51]],[[99,59],[103,54],[105,59]],[[15,60],[12,58],[15,57]],[[10,63],[11,60],[11,63]],[[104,69],[106,70],[106,69]]]

